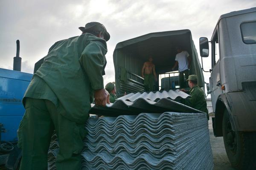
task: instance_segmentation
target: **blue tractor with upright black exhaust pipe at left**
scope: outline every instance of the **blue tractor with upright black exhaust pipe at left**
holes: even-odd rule
[[[20,72],[19,48],[17,40],[13,70],[0,68],[0,169],[17,170],[21,158],[17,129],[25,113],[22,98],[33,74]]]

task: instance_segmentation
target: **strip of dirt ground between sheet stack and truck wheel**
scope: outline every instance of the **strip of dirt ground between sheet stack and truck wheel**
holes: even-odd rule
[[[224,147],[223,137],[215,137],[212,129],[212,118],[209,120],[210,142],[212,146],[214,170],[236,170],[231,167]]]

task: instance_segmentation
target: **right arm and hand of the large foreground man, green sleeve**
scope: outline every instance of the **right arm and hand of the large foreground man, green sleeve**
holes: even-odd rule
[[[106,105],[108,95],[104,89],[102,69],[106,62],[106,42],[91,41],[79,58],[81,67],[89,77],[90,84],[95,91],[94,98],[96,105]]]

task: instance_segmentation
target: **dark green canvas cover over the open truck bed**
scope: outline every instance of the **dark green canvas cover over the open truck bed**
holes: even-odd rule
[[[119,42],[113,53],[117,93],[144,91],[141,68],[149,57],[153,57],[157,74],[172,71],[177,46],[188,51],[192,59],[189,74],[196,74],[198,85],[204,87],[204,76],[191,31],[185,29],[155,32]]]

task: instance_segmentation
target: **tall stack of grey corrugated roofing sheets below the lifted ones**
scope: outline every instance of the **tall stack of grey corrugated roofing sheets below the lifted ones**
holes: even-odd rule
[[[86,129],[82,170],[213,168],[204,113],[141,113],[90,118]]]

